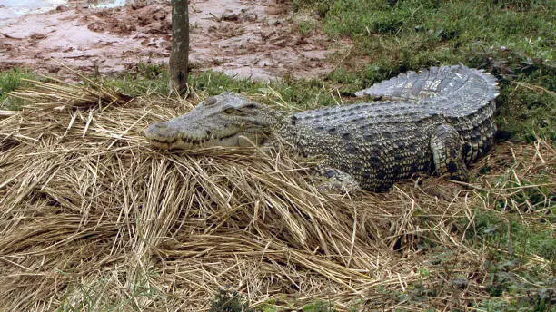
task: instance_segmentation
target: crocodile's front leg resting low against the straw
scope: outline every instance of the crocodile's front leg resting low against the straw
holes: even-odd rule
[[[315,168],[315,175],[323,178],[318,186],[319,190],[332,193],[357,192],[361,190],[357,180],[352,175],[339,169],[331,168],[323,163]]]

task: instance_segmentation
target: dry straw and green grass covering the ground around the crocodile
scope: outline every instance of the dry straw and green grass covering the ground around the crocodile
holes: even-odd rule
[[[33,103],[0,120],[1,307],[554,307],[550,3],[291,5],[300,34],[323,27],[331,44],[343,36],[354,43],[330,59],[325,79],[194,73],[192,96],[180,100],[155,65],[81,77],[77,86],[0,73],[3,94],[24,87],[15,95],[25,100],[3,98],[4,109]],[[223,90],[303,110],[352,102],[352,91],[406,70],[457,62],[501,81],[504,140],[473,166],[466,186],[416,177],[383,194],[327,196],[303,173],[310,162],[252,151],[163,153],[141,134]]]

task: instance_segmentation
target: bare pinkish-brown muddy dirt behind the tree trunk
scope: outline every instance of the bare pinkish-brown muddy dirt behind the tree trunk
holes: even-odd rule
[[[253,80],[322,77],[339,51],[319,31],[299,34],[283,1],[190,1],[190,67]],[[55,60],[92,73],[118,73],[137,63],[167,63],[171,5],[98,9],[58,6],[25,15],[0,29],[0,68],[58,73]]]

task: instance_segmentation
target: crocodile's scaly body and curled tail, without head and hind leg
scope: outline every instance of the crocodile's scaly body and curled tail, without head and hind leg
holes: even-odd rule
[[[474,161],[491,147],[496,80],[464,66],[406,73],[358,93],[381,101],[324,107],[293,114],[280,135],[303,155],[382,190],[415,172],[434,169],[432,133],[451,125],[463,158]]]

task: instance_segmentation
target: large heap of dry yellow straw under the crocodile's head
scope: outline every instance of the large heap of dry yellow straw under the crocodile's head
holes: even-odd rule
[[[31,104],[0,117],[5,311],[202,311],[220,288],[253,307],[454,307],[487,296],[485,256],[465,240],[473,211],[521,190],[425,178],[323,195],[311,164],[283,153],[149,147],[148,124],[196,101],[131,99],[93,82],[35,82],[14,96]],[[554,165],[542,141],[498,152],[482,165],[516,179]],[[450,287],[456,277],[469,285]],[[401,297],[423,281],[441,290],[419,304]]]

